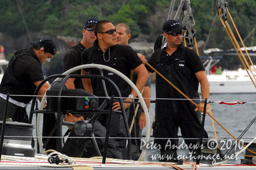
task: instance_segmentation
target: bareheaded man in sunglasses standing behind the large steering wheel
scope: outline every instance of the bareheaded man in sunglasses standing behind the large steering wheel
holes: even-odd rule
[[[132,50],[131,47],[126,45],[117,44],[117,33],[114,25],[106,20],[99,21],[95,27],[95,35],[97,40],[91,48],[86,49],[82,52],[82,64],[102,64],[110,66],[124,74],[126,77],[131,77],[131,70],[133,69],[138,74],[136,86],[139,90],[142,90],[149,75],[145,66]],[[99,69],[83,69],[81,74],[100,75]],[[137,96],[135,90],[131,90],[129,84],[127,84],[122,78],[115,75],[111,71],[103,70],[103,76],[111,79],[119,88],[124,101],[133,102]],[[96,96],[105,96],[102,80],[99,79],[82,79],[84,89],[92,92]],[[106,90],[109,96],[118,96],[113,85],[105,81]],[[100,98],[100,103],[104,100]],[[131,103],[124,103],[124,109],[126,109],[126,115],[129,115],[129,106]],[[120,110],[120,103],[115,102],[113,106],[108,105],[106,109],[112,107],[114,110]],[[99,121],[103,126],[106,127],[106,115],[102,114],[99,117]],[[122,151],[122,158],[126,159],[126,131],[124,128],[124,122],[122,115],[114,112],[112,117],[112,124],[110,130],[111,137],[115,138],[117,147]],[[121,137],[121,138],[118,138]]]

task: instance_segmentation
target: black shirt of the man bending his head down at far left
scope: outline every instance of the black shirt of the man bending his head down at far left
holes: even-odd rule
[[[20,50],[9,61],[0,85],[3,94],[34,95],[37,81],[44,80],[42,67],[32,47]],[[28,104],[32,96],[10,96],[18,102]]]

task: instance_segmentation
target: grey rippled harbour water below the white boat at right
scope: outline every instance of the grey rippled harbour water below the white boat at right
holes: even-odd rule
[[[151,98],[155,99],[155,84],[152,84]],[[251,123],[252,119],[256,116],[256,95],[255,94],[210,94],[209,100],[211,102],[211,112],[218,122],[223,125],[234,137],[239,137],[241,133],[246,129],[246,127]],[[222,102],[246,102],[245,104],[236,105],[225,105],[216,103],[218,101]],[[151,104],[150,108],[150,120],[152,123],[155,114],[155,104]],[[184,113],[185,114],[185,113]],[[214,122],[216,129],[218,143],[220,144],[220,150],[222,154],[226,153],[227,149],[231,147],[231,142],[234,143],[234,139],[216,122]],[[214,127],[212,124],[212,119],[210,116],[206,115],[205,118],[205,130],[207,131],[211,140],[216,140]],[[256,123],[253,123],[251,127],[246,131],[242,138],[242,142],[250,142],[256,136]],[[143,131],[144,132],[144,131]],[[179,135],[181,135],[179,133]],[[153,141],[153,139],[151,139]],[[180,138],[180,143],[183,139]],[[232,150],[230,154],[239,152],[242,147],[237,144],[236,150]],[[178,154],[186,155],[188,150],[179,150]],[[152,155],[159,154],[157,149],[148,149],[146,160],[153,161]],[[238,159],[230,160],[230,163],[240,163],[240,159],[244,158],[245,151],[242,152]],[[156,160],[157,161],[157,160]]]

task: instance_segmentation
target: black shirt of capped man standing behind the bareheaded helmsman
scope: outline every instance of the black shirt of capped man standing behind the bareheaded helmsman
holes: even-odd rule
[[[74,68],[81,64],[81,53],[85,49],[81,42],[78,42],[75,46],[73,46],[65,55],[63,59],[63,72]],[[81,70],[77,70],[72,72],[73,75],[80,75]],[[74,81],[74,85],[76,88],[83,89],[82,81],[79,78],[76,78]]]

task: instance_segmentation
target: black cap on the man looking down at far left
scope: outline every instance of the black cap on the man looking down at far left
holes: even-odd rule
[[[56,45],[53,40],[49,38],[42,38],[39,41],[31,41],[32,46],[40,46],[45,48],[45,52],[55,55],[57,53]]]

